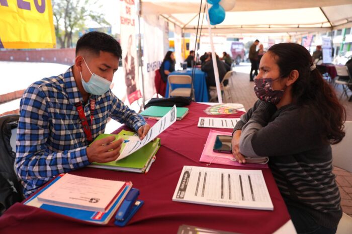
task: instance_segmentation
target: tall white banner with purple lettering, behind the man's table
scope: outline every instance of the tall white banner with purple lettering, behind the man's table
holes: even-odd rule
[[[165,21],[155,15],[145,15],[144,20],[144,47],[143,47],[143,76],[145,99],[151,98],[155,92],[155,70],[159,69],[166,54],[164,51],[163,30]],[[168,39],[167,39],[168,43]]]

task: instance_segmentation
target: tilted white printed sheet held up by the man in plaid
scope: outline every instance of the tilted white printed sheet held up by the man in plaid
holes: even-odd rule
[[[147,135],[143,138],[143,140],[130,140],[126,143],[124,149],[122,150],[119,158],[116,161],[126,158],[131,153],[137,151],[150,141],[152,141],[155,137],[157,137],[161,132],[163,132],[166,128],[171,126],[174,122],[176,122],[177,109],[174,105],[169,112],[166,113],[161,119],[159,119],[154,126],[152,126]]]

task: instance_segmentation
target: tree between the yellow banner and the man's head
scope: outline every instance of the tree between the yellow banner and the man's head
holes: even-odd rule
[[[92,2],[91,0],[52,0],[55,34],[61,48],[72,47],[73,32],[85,28],[86,20],[92,20],[100,25],[109,25],[102,13],[89,8],[96,6],[98,1]],[[96,9],[99,8],[101,6]]]

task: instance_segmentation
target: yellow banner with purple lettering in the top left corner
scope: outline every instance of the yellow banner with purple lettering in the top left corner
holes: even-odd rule
[[[0,0],[0,48],[55,48],[50,0]]]

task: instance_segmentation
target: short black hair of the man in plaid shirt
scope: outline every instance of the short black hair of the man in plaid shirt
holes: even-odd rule
[[[114,54],[119,59],[122,58],[122,49],[118,41],[112,36],[101,32],[89,32],[81,36],[76,45],[76,56],[80,50],[89,50],[99,55],[100,51]]]

